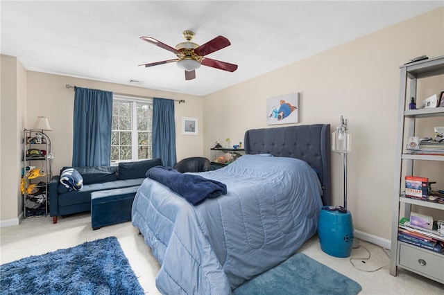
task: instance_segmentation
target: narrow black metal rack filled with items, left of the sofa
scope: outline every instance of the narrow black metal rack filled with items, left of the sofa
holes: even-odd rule
[[[52,177],[51,140],[42,130],[24,129],[22,195],[24,218],[48,214]],[[35,169],[35,172],[30,173]]]

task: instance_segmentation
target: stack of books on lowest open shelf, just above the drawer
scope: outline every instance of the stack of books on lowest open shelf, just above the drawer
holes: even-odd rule
[[[398,240],[444,254],[444,235],[433,229],[413,226],[406,218],[400,220]]]

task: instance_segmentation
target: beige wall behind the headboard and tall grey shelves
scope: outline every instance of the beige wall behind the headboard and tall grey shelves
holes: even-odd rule
[[[299,125],[330,123],[334,129],[341,115],[348,118],[348,208],[355,229],[390,240],[399,66],[419,55],[444,55],[443,16],[443,8],[434,10],[205,97],[205,155],[214,141],[268,127],[267,98],[299,92]],[[419,87],[418,98],[444,90],[443,77],[428,84]],[[443,118],[429,120],[421,134],[432,136],[437,125]],[[271,127],[278,126],[284,125]],[[427,175],[436,175],[441,188],[443,164],[427,164]],[[342,166],[342,157],[332,154],[336,205],[343,204]]]

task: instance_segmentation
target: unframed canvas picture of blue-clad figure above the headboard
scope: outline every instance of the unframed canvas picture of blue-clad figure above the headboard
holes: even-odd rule
[[[299,123],[299,93],[266,100],[266,125]]]

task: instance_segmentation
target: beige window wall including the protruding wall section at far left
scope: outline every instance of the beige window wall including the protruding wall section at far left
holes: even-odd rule
[[[94,80],[26,71],[16,57],[1,55],[1,169],[0,227],[19,224],[22,195],[19,190],[22,169],[22,133],[32,128],[37,116],[49,118],[53,175],[71,165],[73,138],[74,89],[102,89],[133,96],[185,100],[175,102],[177,159],[203,154],[203,98],[182,93],[158,91]],[[198,135],[182,135],[182,117],[198,119]],[[10,184],[13,184],[10,186]]]

